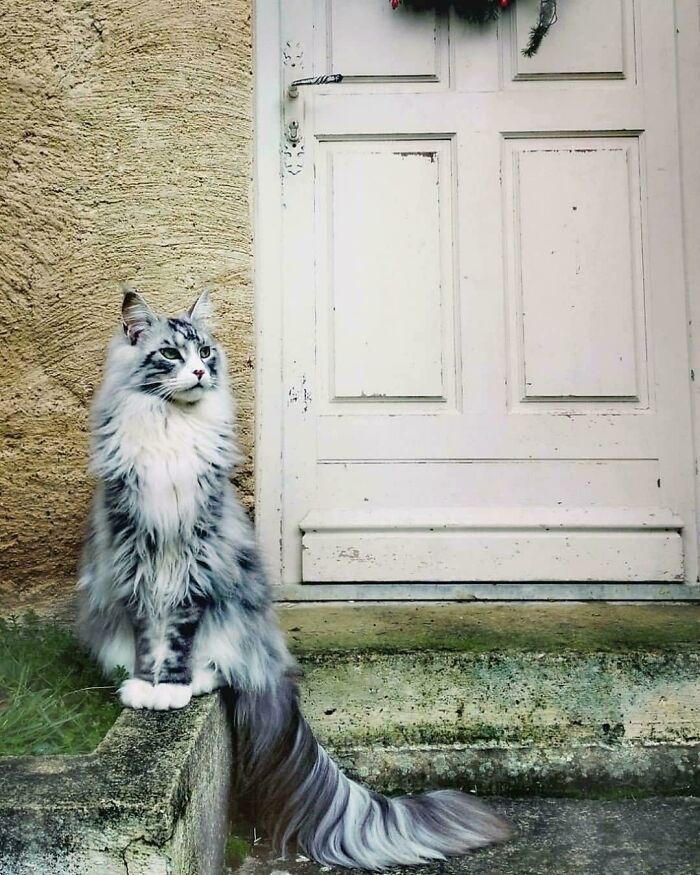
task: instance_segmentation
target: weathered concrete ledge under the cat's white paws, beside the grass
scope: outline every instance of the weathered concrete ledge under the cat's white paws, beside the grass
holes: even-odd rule
[[[126,710],[89,754],[0,757],[0,875],[219,875],[232,768],[218,694]]]

